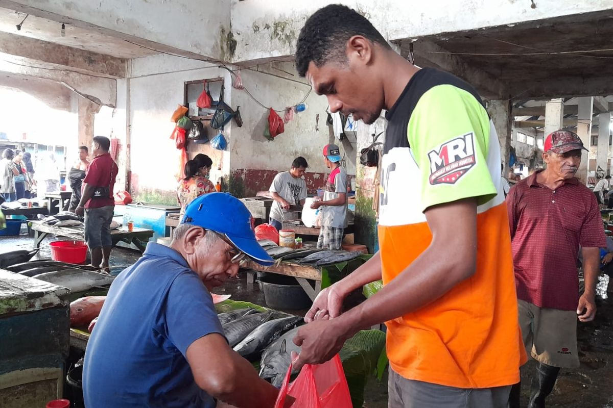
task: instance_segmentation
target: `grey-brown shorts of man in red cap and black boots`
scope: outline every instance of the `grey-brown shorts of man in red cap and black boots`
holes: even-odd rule
[[[579,366],[576,311],[539,308],[519,299],[517,309],[528,355],[549,366]]]

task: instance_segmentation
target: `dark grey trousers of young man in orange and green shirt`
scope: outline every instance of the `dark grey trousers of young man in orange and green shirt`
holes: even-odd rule
[[[492,388],[455,388],[408,380],[389,369],[389,408],[506,408],[511,385]]]

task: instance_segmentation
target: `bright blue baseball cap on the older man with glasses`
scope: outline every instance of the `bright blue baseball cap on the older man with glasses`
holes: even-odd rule
[[[275,261],[257,243],[251,220],[251,213],[238,198],[228,193],[208,193],[189,203],[181,222],[222,234],[258,264],[272,265]]]

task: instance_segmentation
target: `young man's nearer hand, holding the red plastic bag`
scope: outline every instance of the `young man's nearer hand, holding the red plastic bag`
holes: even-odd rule
[[[294,361],[298,370],[305,364],[321,364],[334,357],[345,344],[346,330],[337,319],[318,320],[300,327],[294,343],[300,354]]]

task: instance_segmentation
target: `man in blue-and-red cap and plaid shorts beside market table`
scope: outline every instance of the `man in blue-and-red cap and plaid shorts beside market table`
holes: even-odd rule
[[[340,165],[340,149],[335,144],[324,147],[326,167],[331,170],[326,179],[323,201],[315,201],[313,209],[320,209],[321,230],[318,248],[340,250],[343,245],[343,230],[347,227],[347,173]]]

